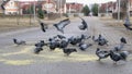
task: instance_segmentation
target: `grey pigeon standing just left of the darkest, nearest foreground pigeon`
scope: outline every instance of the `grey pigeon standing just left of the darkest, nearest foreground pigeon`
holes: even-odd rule
[[[105,50],[100,50],[99,48],[97,48],[96,54],[99,58],[98,60],[100,61],[101,59],[108,58],[110,55],[110,52],[109,51],[105,51]]]

